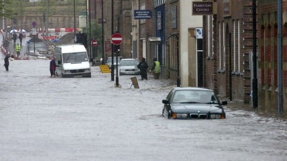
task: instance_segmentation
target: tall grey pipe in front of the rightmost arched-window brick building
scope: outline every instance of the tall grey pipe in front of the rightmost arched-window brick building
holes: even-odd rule
[[[278,112],[282,108],[282,0],[278,0]]]

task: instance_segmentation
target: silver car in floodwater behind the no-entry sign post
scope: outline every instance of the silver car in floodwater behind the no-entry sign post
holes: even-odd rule
[[[119,75],[139,75],[140,71],[137,68],[139,61],[137,59],[121,59],[118,70]]]

